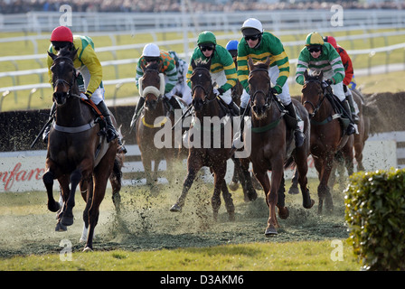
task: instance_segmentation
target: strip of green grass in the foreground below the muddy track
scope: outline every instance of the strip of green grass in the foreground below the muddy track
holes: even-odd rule
[[[17,271],[358,271],[353,250],[344,244],[343,261],[334,261],[330,240],[189,247],[157,251],[73,252],[0,259],[0,270]],[[65,260],[65,261],[62,261]]]

